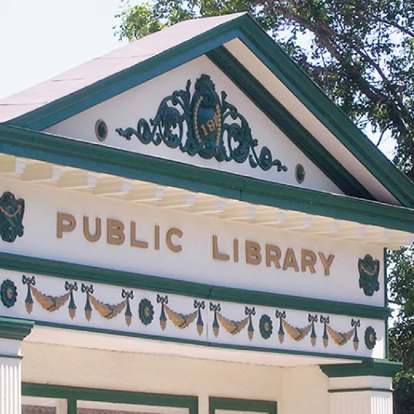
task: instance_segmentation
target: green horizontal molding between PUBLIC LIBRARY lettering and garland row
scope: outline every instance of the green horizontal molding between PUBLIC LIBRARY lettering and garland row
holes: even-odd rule
[[[0,268],[22,273],[61,277],[63,279],[80,279],[86,282],[121,286],[123,288],[146,289],[153,292],[172,293],[198,299],[235,302],[256,306],[274,307],[277,304],[278,308],[347,315],[367,319],[386,319],[390,315],[388,308],[381,308],[379,306],[280,295],[277,293],[266,293],[240,288],[226,288],[120,270],[58,262],[50,259],[12,255],[10,253],[0,253]]]

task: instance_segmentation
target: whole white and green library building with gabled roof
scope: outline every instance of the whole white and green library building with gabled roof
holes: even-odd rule
[[[414,186],[249,14],[0,101],[0,414],[392,414]]]

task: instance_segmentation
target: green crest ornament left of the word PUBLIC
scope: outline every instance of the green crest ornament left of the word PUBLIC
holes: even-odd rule
[[[23,236],[24,200],[16,199],[10,191],[0,197],[0,236],[4,242],[12,243]]]

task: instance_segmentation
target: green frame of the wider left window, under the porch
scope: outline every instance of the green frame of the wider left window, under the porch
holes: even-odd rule
[[[21,384],[21,394],[30,395],[31,397],[52,397],[72,401],[83,400],[188,408],[189,414],[198,414],[198,397],[192,395],[139,393],[28,382]]]

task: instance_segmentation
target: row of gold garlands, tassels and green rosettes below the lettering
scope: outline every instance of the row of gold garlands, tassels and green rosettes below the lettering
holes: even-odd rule
[[[78,317],[75,293],[79,290],[80,293],[85,295],[83,299],[85,304],[83,311],[88,323],[94,317],[94,311],[97,312],[97,315],[107,320],[115,319],[119,314],[124,312],[126,326],[130,328],[132,325],[132,316],[133,313],[135,313],[135,306],[137,306],[136,302],[132,302],[133,299],[137,299],[137,293],[133,290],[121,288],[121,302],[114,301],[115,303],[111,304],[99,299],[97,288],[93,284],[66,280],[62,286],[63,292],[58,295],[50,295],[39,290],[36,287],[37,276],[34,275],[22,275],[21,284],[27,288],[26,297],[24,298],[24,307],[28,314],[34,311],[35,303],[39,304],[41,308],[48,311],[48,313],[55,313],[67,304],[70,319],[75,319],[75,317]],[[3,306],[6,308],[15,306],[18,296],[16,284],[10,279],[4,279],[1,283],[0,290]],[[168,322],[171,322],[172,326],[179,328],[181,331],[186,330],[189,326],[195,324],[197,333],[201,336],[206,328],[205,318],[207,313],[204,313],[206,310],[207,312],[210,311],[212,314],[212,318],[207,319],[210,321],[208,324],[210,324],[213,335],[216,338],[220,336],[221,329],[223,329],[226,333],[232,336],[247,334],[249,341],[253,342],[255,337],[255,326],[258,323],[259,335],[263,339],[266,339],[266,342],[267,340],[270,340],[270,342],[273,341],[271,338],[274,332],[274,326],[278,325],[276,338],[279,345],[285,344],[285,337],[288,335],[288,337],[295,342],[301,342],[306,337],[309,337],[313,348],[315,348],[319,340],[322,340],[324,348],[328,348],[330,339],[332,339],[332,344],[337,346],[344,346],[352,340],[355,352],[359,349],[358,328],[362,326],[361,319],[351,318],[351,329],[349,331],[338,331],[333,328],[333,324],[331,323],[331,320],[335,318],[335,316],[332,315],[308,313],[306,321],[304,320],[304,325],[296,326],[295,323],[290,322],[291,311],[286,309],[275,309],[273,314],[275,319],[273,319],[271,314],[268,315],[262,313],[262,315],[257,315],[257,308],[255,306],[244,305],[240,307],[239,319],[233,319],[226,315],[228,304],[217,302],[208,302],[208,304],[206,304],[204,300],[193,299],[192,309],[188,309],[188,313],[181,313],[175,309],[173,304],[170,304],[168,295],[158,293],[152,299],[150,294],[144,293],[144,295],[147,297],[141,297],[137,306],[139,321],[144,326],[151,325],[154,322],[155,317],[154,303],[158,304],[159,328],[161,328],[161,331],[166,330]],[[174,297],[173,300],[177,301],[177,298]],[[79,294],[76,302],[79,302]],[[177,305],[177,303],[178,302],[175,304]],[[306,313],[304,313],[304,316],[305,315]],[[320,328],[318,328],[318,326]],[[246,332],[246,334],[242,334],[243,332]],[[364,344],[366,349],[371,351],[375,347],[376,342],[377,333],[375,332],[375,329],[372,326],[367,326],[364,331]]]

